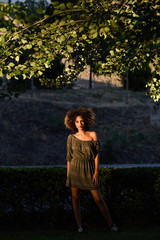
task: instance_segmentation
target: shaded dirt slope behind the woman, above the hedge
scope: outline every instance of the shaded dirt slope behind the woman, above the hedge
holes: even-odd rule
[[[150,124],[150,99],[99,83],[93,89],[24,93],[0,101],[0,165],[66,164],[63,119],[70,108],[92,107],[101,163],[159,163],[160,129]]]

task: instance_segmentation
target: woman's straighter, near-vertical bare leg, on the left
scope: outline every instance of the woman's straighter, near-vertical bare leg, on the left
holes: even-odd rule
[[[74,211],[74,216],[77,222],[77,226],[81,226],[81,206],[80,206],[80,195],[77,188],[71,188],[72,192],[72,206]]]

